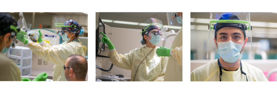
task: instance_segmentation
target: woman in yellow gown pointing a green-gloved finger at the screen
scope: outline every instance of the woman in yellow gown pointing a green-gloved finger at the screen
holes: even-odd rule
[[[118,54],[110,39],[103,35],[102,42],[109,47],[110,61],[119,68],[131,70],[131,81],[163,81],[168,57],[159,57],[156,54],[156,49],[160,48],[156,47],[156,44],[160,42],[161,35],[157,26],[150,25],[142,33],[140,43],[146,46],[133,49],[124,55]]]

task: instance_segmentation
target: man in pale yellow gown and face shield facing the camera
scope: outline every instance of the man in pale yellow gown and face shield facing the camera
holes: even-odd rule
[[[241,60],[248,39],[252,39],[251,36],[246,37],[247,33],[251,34],[246,33],[251,29],[246,25],[248,21],[241,18],[246,14],[250,21],[250,14],[217,14],[218,17],[223,15],[209,29],[214,30],[214,46],[220,57],[191,71],[190,81],[268,81],[262,70]],[[214,18],[212,15],[210,18]]]

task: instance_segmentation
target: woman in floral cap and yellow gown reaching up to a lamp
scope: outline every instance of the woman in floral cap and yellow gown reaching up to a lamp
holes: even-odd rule
[[[84,33],[81,25],[72,19],[63,24],[63,26],[71,25],[76,27],[62,27],[62,30],[57,32],[58,34],[61,34],[61,37],[65,42],[54,46],[50,46],[47,42],[44,42],[41,39],[42,33],[40,30],[38,31],[40,36],[37,39],[39,43],[28,41],[28,39],[25,39],[22,34],[16,35],[17,39],[27,45],[39,58],[54,64],[53,81],[67,81],[63,69],[66,59],[69,55],[73,54],[85,57],[86,50],[88,49],[86,46],[82,45],[78,39],[78,36]]]

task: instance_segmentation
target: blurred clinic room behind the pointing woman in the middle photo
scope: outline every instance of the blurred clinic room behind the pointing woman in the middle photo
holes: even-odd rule
[[[103,21],[104,24],[101,24],[99,18]],[[105,34],[111,40],[112,44],[115,46],[115,49],[118,54],[126,54],[135,48],[140,48],[145,45],[140,43],[142,36],[140,34],[141,30],[144,29],[144,22],[149,18],[156,18],[161,20],[162,25],[166,31],[166,34],[172,34],[172,36],[167,36],[168,42],[163,40],[157,46],[166,46],[171,48],[173,39],[175,38],[176,33],[181,26],[176,26],[177,30],[169,30],[167,23],[167,13],[96,13],[96,31],[99,29],[99,32],[104,32],[103,28],[105,27]],[[103,26],[104,25],[104,26]],[[98,31],[96,32],[96,34]],[[98,38],[98,36],[96,36]],[[99,38],[102,39],[103,35],[100,34]],[[96,42],[99,44],[99,47],[96,47],[96,54],[108,56],[109,49],[105,44],[105,51],[101,49],[102,42]],[[164,44],[164,45],[163,45]],[[98,49],[100,48],[100,49]],[[101,52],[100,52],[101,50]],[[97,53],[97,51],[99,51]],[[96,65],[100,68],[108,70],[111,66],[109,58],[97,57]],[[124,78],[131,79],[131,70],[126,70],[118,68],[115,65],[110,71],[101,71],[96,68],[96,75],[106,75],[106,76],[115,76],[123,75]]]

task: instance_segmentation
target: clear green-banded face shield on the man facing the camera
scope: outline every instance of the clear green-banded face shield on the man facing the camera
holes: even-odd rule
[[[250,13],[210,13],[207,59],[223,59],[223,67],[253,59],[251,29]]]

